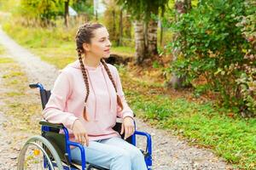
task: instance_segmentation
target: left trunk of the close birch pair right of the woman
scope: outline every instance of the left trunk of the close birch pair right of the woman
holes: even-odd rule
[[[135,49],[136,49],[136,64],[143,63],[145,54],[145,37],[144,37],[144,23],[142,20],[135,21]]]

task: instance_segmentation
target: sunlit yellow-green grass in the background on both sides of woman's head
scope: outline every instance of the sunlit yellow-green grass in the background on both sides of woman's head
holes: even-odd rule
[[[74,27],[67,30],[61,26],[49,29],[28,28],[19,24],[14,25],[12,22],[3,22],[3,30],[10,37],[58,68],[63,68],[67,63],[77,59],[74,41],[76,29]],[[135,48],[113,47],[112,53],[131,57],[135,53]]]

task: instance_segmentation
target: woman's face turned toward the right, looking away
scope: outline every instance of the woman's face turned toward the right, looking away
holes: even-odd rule
[[[90,39],[90,44],[84,44],[86,54],[90,54],[99,59],[108,58],[110,55],[111,42],[106,27],[93,31],[94,37]]]

